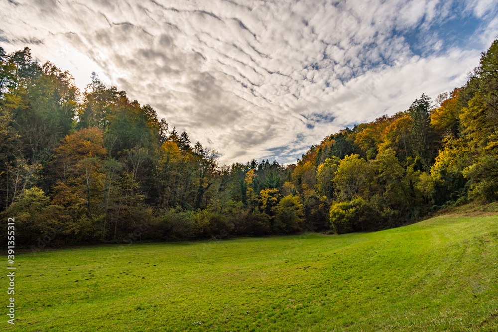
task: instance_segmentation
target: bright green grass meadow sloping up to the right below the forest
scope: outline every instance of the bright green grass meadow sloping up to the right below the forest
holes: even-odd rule
[[[51,332],[498,331],[497,245],[498,216],[442,216],[373,233],[26,253],[16,256],[16,325],[5,315],[1,324]]]

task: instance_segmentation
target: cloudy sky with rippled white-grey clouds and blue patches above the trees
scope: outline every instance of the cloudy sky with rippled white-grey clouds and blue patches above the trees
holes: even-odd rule
[[[295,162],[356,123],[467,81],[494,0],[0,0],[0,46],[83,91],[95,71],[221,164]]]

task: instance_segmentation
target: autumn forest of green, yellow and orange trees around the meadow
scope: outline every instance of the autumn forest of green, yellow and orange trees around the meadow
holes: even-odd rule
[[[497,201],[498,39],[464,86],[406,107],[296,164],[220,165],[95,73],[82,92],[29,48],[0,48],[0,215],[43,248],[371,231]]]

